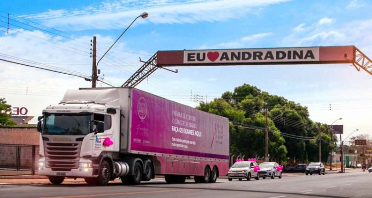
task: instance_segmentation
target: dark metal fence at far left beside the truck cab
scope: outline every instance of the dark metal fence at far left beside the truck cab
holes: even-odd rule
[[[0,144],[0,176],[35,175],[39,146]]]

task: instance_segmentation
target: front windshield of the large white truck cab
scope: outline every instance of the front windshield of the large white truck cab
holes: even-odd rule
[[[43,133],[50,135],[86,135],[90,133],[91,114],[46,114]]]

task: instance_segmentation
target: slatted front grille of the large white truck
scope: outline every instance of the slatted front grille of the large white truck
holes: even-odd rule
[[[76,136],[71,138],[76,139]],[[79,153],[82,142],[73,141],[71,143],[58,143],[51,141],[44,141],[45,156],[47,168],[53,171],[70,171],[79,167]]]

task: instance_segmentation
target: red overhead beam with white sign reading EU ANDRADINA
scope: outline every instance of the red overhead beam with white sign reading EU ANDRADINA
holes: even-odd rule
[[[354,58],[354,46],[157,52],[159,66],[350,63]]]

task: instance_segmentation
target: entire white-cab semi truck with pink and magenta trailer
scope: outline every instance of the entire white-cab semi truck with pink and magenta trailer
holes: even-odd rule
[[[227,118],[137,89],[68,90],[38,120],[39,175],[53,184],[214,183],[229,169]]]

